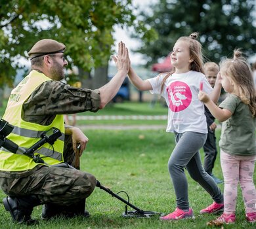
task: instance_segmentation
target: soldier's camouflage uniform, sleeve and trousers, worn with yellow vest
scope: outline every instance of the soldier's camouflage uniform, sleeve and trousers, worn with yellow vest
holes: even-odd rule
[[[75,88],[59,81],[43,82],[23,105],[22,119],[49,125],[56,115],[98,111],[98,90]],[[64,161],[73,165],[72,137],[65,136]],[[36,166],[28,171],[0,171],[0,186],[9,196],[35,194],[41,203],[70,205],[93,192],[96,179],[90,173],[62,167]]]

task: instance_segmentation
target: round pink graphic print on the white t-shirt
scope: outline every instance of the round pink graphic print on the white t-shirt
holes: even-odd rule
[[[192,100],[192,93],[188,84],[175,81],[166,88],[168,93],[169,108],[171,111],[183,111],[190,105]]]

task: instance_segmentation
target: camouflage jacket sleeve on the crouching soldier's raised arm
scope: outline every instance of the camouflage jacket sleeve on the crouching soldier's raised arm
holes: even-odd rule
[[[22,119],[49,125],[56,115],[98,111],[98,89],[75,88],[60,81],[43,82],[23,105]]]

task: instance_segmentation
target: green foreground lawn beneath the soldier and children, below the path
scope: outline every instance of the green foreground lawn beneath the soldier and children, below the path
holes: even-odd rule
[[[81,169],[93,173],[103,186],[117,193],[124,190],[130,202],[140,209],[169,213],[175,209],[175,194],[167,171],[167,161],[174,147],[172,133],[164,130],[87,130],[89,143],[83,153]],[[219,139],[220,131],[217,131]],[[202,154],[203,158],[203,154]],[[219,157],[214,173],[221,177]],[[112,198],[110,194],[95,188],[87,199],[89,219],[39,220],[39,226],[30,228],[209,228],[206,222],[215,219],[214,215],[199,215],[200,209],[212,200],[203,188],[188,177],[190,205],[196,219],[178,222],[161,222],[158,217],[150,219],[125,219],[121,217],[125,204]],[[256,177],[255,177],[256,178]],[[220,185],[223,190],[223,185]],[[120,194],[126,198],[125,194]],[[237,222],[224,228],[255,228],[245,222],[244,203],[241,192],[238,194],[236,210]],[[5,194],[0,191],[0,202]],[[129,210],[132,210],[129,208]],[[41,206],[33,210],[33,218],[40,218]],[[11,217],[0,203],[0,228],[28,228],[11,222]]]

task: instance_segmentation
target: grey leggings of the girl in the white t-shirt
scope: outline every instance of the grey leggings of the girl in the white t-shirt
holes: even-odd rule
[[[184,173],[187,169],[190,177],[199,183],[217,203],[223,203],[223,194],[215,181],[203,169],[200,148],[205,143],[207,134],[197,132],[175,132],[176,146],[173,150],[168,169],[173,181],[176,194],[177,207],[182,210],[189,209],[188,182]]]

